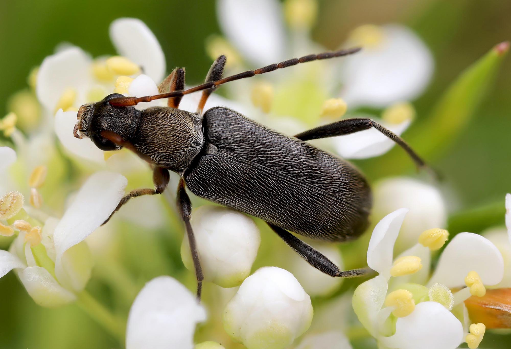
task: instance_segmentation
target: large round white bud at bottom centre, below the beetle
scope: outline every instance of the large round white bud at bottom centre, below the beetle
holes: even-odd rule
[[[264,267],[227,304],[225,331],[248,349],[284,349],[309,328],[311,299],[288,271]]]

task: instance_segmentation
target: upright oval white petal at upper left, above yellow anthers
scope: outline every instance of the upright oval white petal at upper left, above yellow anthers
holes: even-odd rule
[[[165,75],[165,55],[156,36],[136,18],[119,18],[110,25],[110,39],[117,52],[143,68],[155,81]]]

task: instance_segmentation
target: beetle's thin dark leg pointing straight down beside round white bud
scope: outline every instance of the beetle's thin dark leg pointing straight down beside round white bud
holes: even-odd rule
[[[192,203],[188,197],[187,191],[184,189],[184,180],[181,178],[177,186],[177,206],[179,213],[183,219],[184,225],[187,228],[188,244],[192,252],[193,264],[195,267],[195,275],[197,277],[197,299],[200,300],[200,293],[202,291],[202,267],[200,266],[199,252],[197,251],[197,244],[195,243],[195,236],[193,234],[192,225],[190,224],[190,217],[192,216]]]

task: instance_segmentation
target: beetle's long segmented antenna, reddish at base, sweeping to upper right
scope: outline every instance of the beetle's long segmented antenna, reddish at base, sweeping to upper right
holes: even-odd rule
[[[306,63],[306,62],[312,62],[313,60],[329,59],[329,58],[351,55],[353,53],[359,52],[361,49],[362,49],[361,47],[356,47],[356,48],[339,50],[339,51],[334,51],[334,52],[323,52],[320,54],[307,55],[307,56],[303,56],[300,58],[288,59],[288,60],[282,61],[280,63],[270,64],[269,66],[266,66],[263,68],[259,68],[259,69],[255,69],[255,70],[247,70],[246,72],[227,76],[220,80],[205,82],[201,85],[197,85],[193,88],[190,88],[190,89],[184,90],[184,91],[173,91],[173,92],[168,92],[168,93],[162,93],[159,95],[145,96],[145,97],[138,97],[138,98],[137,97],[113,98],[113,99],[109,100],[108,102],[111,105],[115,105],[115,106],[130,106],[130,105],[135,105],[135,104],[138,104],[141,102],[150,102],[155,99],[182,97],[184,95],[188,95],[193,92],[216,88],[216,86],[224,84],[226,82],[235,81],[235,80],[244,79],[244,78],[250,78],[254,75],[260,75],[260,74],[264,74],[264,73],[273,72],[274,70],[277,70],[277,69],[295,66],[298,63]]]

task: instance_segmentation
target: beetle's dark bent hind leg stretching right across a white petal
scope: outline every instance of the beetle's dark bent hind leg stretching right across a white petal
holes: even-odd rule
[[[376,123],[369,118],[353,118],[340,120],[328,125],[322,125],[316,128],[309,129],[294,137],[301,139],[303,141],[308,141],[311,139],[349,135],[355,132],[363,131],[364,129],[368,129],[371,127],[376,128],[382,134],[384,134],[385,136],[399,144],[408,153],[410,158],[412,158],[417,167],[419,168],[426,167],[426,163],[424,162],[424,160],[419,155],[417,155],[417,153],[413,151],[413,149],[410,148],[410,146],[401,137],[399,137],[392,131],[386,129],[379,123]]]

